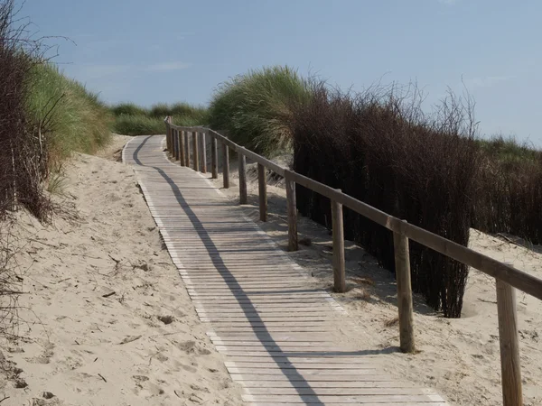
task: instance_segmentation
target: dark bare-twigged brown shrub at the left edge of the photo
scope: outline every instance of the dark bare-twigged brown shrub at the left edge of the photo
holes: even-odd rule
[[[29,73],[40,44],[24,33],[24,26],[14,28],[13,0],[0,3],[0,216],[21,204],[46,219],[51,213],[42,192],[46,148],[26,112]]]

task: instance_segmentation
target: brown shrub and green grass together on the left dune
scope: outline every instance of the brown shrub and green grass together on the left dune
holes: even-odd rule
[[[24,207],[46,221],[52,205],[45,182],[58,183],[52,179],[71,152],[106,144],[113,116],[46,62],[47,47],[28,36],[29,24],[16,13],[13,0],[0,0],[0,216]]]

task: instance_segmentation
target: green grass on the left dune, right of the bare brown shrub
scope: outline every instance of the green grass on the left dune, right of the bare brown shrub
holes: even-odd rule
[[[93,153],[109,141],[113,116],[107,106],[53,65],[33,67],[27,108],[53,168],[71,152]]]

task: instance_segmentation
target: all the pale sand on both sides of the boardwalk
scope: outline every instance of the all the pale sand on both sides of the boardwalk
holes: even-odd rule
[[[72,213],[42,226],[15,218],[14,247],[22,270],[21,323],[3,339],[0,402],[14,405],[240,405],[223,359],[205,335],[169,255],[164,251],[131,168],[116,162],[130,137],[116,136],[99,157],[77,155],[67,168],[64,207]],[[229,198],[238,198],[232,164]],[[248,217],[257,220],[257,184],[249,169]],[[207,175],[209,176],[209,175]],[[221,187],[221,179],[213,180]],[[262,229],[285,247],[285,190],[268,187]],[[73,214],[77,214],[77,218]],[[331,236],[299,218],[310,245],[289,253],[332,286]],[[472,230],[472,248],[542,277],[542,250]],[[444,319],[416,300],[416,355],[397,351],[395,282],[374,258],[346,242],[350,291],[333,297],[359,325],[345,345],[381,354],[388,374],[435,388],[452,405],[501,404],[495,284],[471,272],[461,319]],[[542,302],[518,295],[525,404],[542,404]],[[171,321],[171,322],[170,322]],[[169,324],[166,324],[169,323]],[[124,344],[122,344],[124,343]],[[15,387],[19,386],[19,387]],[[53,395],[51,397],[51,395]],[[50,398],[51,397],[51,398]],[[50,398],[50,399],[46,399]]]

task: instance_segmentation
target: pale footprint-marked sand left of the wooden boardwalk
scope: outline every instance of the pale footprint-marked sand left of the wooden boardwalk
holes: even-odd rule
[[[14,218],[25,293],[18,337],[0,342],[3,405],[242,404],[117,162],[129,138],[70,161],[54,199],[71,209],[53,225]]]

